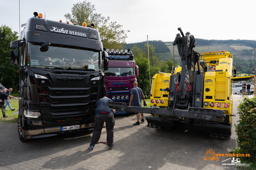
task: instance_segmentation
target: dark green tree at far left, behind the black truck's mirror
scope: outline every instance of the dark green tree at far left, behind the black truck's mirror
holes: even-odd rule
[[[11,64],[10,43],[18,39],[18,33],[6,25],[0,27],[0,83],[17,92],[18,67]]]

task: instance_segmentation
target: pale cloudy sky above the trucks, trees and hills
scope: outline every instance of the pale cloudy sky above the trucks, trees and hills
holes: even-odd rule
[[[83,0],[0,0],[0,26],[19,32],[34,12],[54,21],[66,21],[73,4]],[[255,40],[256,1],[234,0],[87,0],[96,13],[110,17],[127,32],[126,43],[174,41],[181,27],[200,39]],[[19,30],[20,29],[20,30]],[[148,37],[147,37],[148,35]]]

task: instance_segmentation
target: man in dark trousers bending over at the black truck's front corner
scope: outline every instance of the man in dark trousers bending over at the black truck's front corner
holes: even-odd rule
[[[92,134],[92,141],[90,143],[90,150],[93,150],[94,146],[100,140],[101,131],[106,122],[106,130],[107,130],[107,145],[109,149],[114,148],[114,113],[115,109],[110,109],[106,106],[106,102],[112,102],[111,99],[107,97],[103,97],[96,103],[96,111],[95,111],[95,121],[94,121],[94,129]]]

